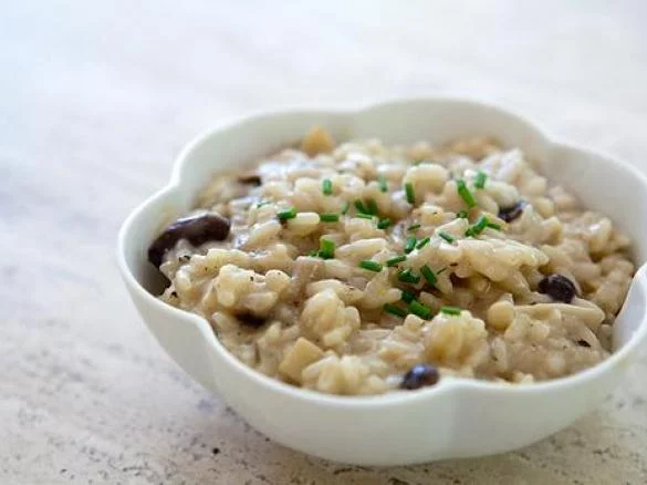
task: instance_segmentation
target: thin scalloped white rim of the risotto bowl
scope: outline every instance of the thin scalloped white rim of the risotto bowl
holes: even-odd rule
[[[390,392],[385,394],[376,394],[376,395],[359,395],[359,396],[347,396],[347,395],[334,395],[334,394],[325,394],[319,391],[312,391],[307,389],[296,388],[279,381],[276,379],[270,378],[265,374],[262,374],[259,371],[255,371],[252,368],[243,364],[239,361],[229,350],[225,348],[225,345],[219,341],[216,336],[216,332],[209,324],[209,322],[195,313],[190,313],[185,310],[177,309],[171,307],[155,296],[153,296],[148,290],[146,290],[139,281],[135,278],[128,264],[126,262],[125,258],[125,247],[128,244],[128,235],[131,228],[133,227],[134,221],[140,217],[142,213],[152,210],[158,203],[160,203],[166,197],[173,195],[177,190],[179,190],[182,186],[182,174],[190,169],[190,155],[206,141],[208,141],[211,136],[217,135],[219,132],[223,130],[240,130],[243,125],[248,122],[255,121],[262,117],[273,117],[275,115],[288,115],[288,114],[299,114],[299,113],[325,113],[325,114],[334,114],[334,115],[343,115],[346,117],[353,117],[372,110],[376,109],[385,109],[392,105],[398,104],[408,104],[408,103],[434,103],[434,102],[442,102],[442,103],[462,103],[462,104],[472,104],[479,105],[481,107],[487,107],[499,113],[503,113],[510,117],[515,118],[515,121],[524,125],[525,127],[530,128],[533,134],[540,138],[540,141],[549,148],[568,148],[576,151],[582,154],[592,154],[595,156],[601,156],[605,158],[605,162],[611,164],[617,165],[619,168],[629,172],[634,177],[639,179],[647,190],[647,176],[645,176],[639,169],[635,166],[602,151],[593,151],[589,148],[585,148],[578,146],[573,143],[564,143],[557,142],[553,137],[547,136],[545,131],[538,127],[535,123],[530,122],[524,116],[519,115],[518,113],[510,111],[508,109],[501,109],[497,105],[484,103],[482,101],[476,101],[470,99],[461,99],[461,97],[451,97],[451,96],[426,96],[426,97],[413,97],[413,99],[398,99],[378,103],[369,103],[369,104],[361,104],[356,107],[338,107],[338,106],[327,106],[322,109],[316,107],[305,107],[305,106],[296,106],[296,107],[283,107],[279,110],[271,110],[271,111],[262,111],[257,113],[247,114],[243,116],[238,116],[234,118],[228,118],[222,121],[221,123],[213,124],[208,128],[204,130],[200,134],[195,136],[185,147],[180,151],[178,156],[175,159],[174,168],[171,172],[171,177],[168,184],[163,187],[160,190],[156,192],[154,195],[148,197],[142,204],[139,204],[124,220],[122,228],[118,235],[117,241],[117,262],[121,269],[122,276],[124,277],[126,283],[134,290],[140,298],[146,300],[148,305],[156,306],[161,311],[168,312],[173,317],[177,318],[177,320],[181,320],[185,323],[194,324],[198,328],[202,338],[211,345],[211,350],[216,351],[225,358],[225,360],[231,365],[231,368],[236,372],[240,372],[246,374],[249,379],[253,380],[258,385],[270,388],[275,392],[284,393],[290,395],[293,399],[304,400],[304,401],[316,401],[321,404],[332,405],[332,406],[349,406],[349,407],[372,407],[372,406],[382,406],[387,404],[404,404],[406,402],[414,402],[419,400],[427,400],[434,396],[439,396],[441,394],[460,390],[460,389],[476,389],[480,392],[504,392],[511,394],[539,394],[545,393],[546,391],[555,390],[559,388],[571,386],[576,383],[584,383],[585,381],[593,381],[597,376],[611,372],[613,368],[617,365],[622,365],[622,363],[628,358],[630,353],[633,353],[638,344],[645,340],[647,336],[647,312],[646,309],[643,309],[641,313],[641,321],[637,326],[636,330],[633,332],[632,337],[627,342],[623,344],[623,347],[616,351],[614,351],[607,359],[603,362],[595,364],[592,368],[585,369],[583,371],[576,372],[575,374],[571,374],[563,378],[557,378],[547,381],[540,381],[534,382],[531,384],[510,384],[510,383],[500,383],[500,382],[491,382],[478,379],[470,379],[470,378],[458,378],[458,376],[447,376],[438,384],[431,388],[421,389],[416,392]],[[634,275],[634,279],[632,285],[635,283],[643,283],[647,286],[647,264],[644,264],[639,267],[639,269]],[[623,310],[624,311],[624,308]],[[620,312],[622,312],[620,311]]]

